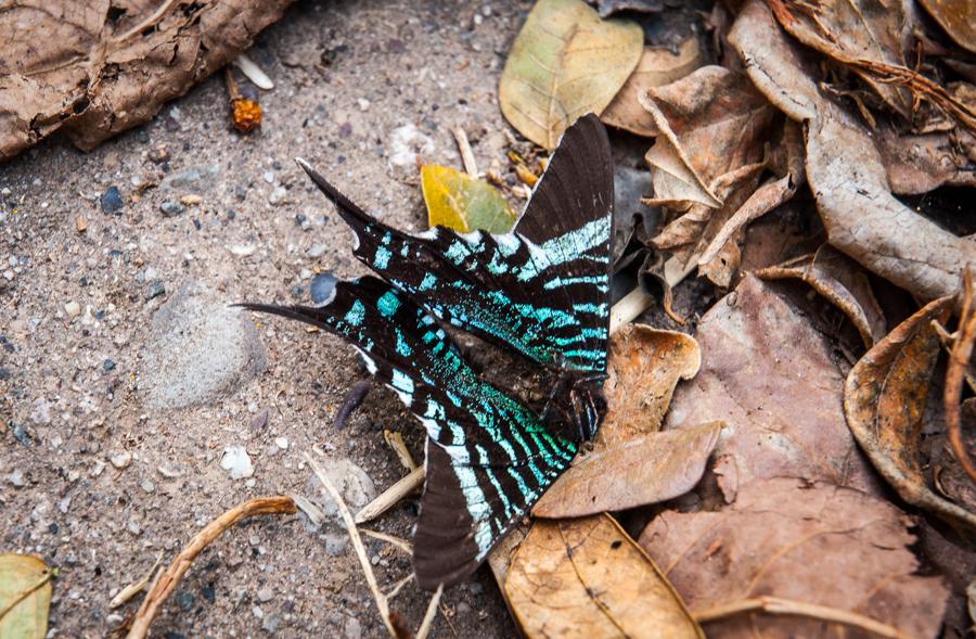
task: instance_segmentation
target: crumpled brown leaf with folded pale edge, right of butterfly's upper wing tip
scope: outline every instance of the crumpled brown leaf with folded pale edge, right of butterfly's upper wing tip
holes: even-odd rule
[[[728,189],[731,175],[765,157],[775,110],[740,73],[703,66],[639,100],[660,131],[645,156],[654,179],[647,204],[720,207],[719,182]]]

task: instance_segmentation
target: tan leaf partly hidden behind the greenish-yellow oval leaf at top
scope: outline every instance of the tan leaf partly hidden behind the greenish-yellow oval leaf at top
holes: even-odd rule
[[[627,84],[616,94],[614,101],[600,115],[605,124],[630,131],[638,136],[653,138],[658,133],[654,118],[638,101],[638,95],[654,87],[662,87],[679,80],[692,73],[705,57],[696,38],[689,38],[678,47],[678,53],[669,49],[644,47],[644,54]]]

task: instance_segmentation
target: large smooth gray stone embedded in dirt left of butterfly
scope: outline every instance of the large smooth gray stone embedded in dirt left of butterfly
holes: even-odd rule
[[[257,331],[226,299],[188,282],[153,315],[140,388],[153,408],[228,397],[265,370]]]

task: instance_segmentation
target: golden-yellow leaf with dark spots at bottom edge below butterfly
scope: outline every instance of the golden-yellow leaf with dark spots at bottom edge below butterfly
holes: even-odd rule
[[[667,579],[608,515],[536,522],[512,561],[505,596],[530,639],[704,637]]]

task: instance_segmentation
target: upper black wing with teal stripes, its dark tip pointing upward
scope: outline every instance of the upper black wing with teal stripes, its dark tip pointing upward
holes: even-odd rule
[[[567,129],[503,235],[398,231],[299,164],[352,228],[355,255],[431,315],[549,367],[605,372],[614,189],[595,115]]]

